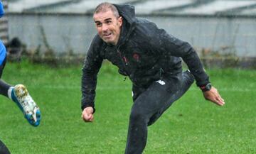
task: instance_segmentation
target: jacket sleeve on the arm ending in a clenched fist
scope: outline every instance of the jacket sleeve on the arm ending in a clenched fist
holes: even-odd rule
[[[95,89],[97,85],[97,73],[102,65],[102,57],[100,57],[100,38],[96,35],[92,40],[90,48],[87,52],[84,66],[82,67],[82,100],[81,109],[92,106],[95,112]]]

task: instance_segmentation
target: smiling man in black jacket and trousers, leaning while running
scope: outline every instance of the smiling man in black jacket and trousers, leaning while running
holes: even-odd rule
[[[126,154],[142,153],[147,126],[154,123],[193,83],[209,101],[224,100],[211,86],[191,45],[169,35],[155,23],[136,18],[134,7],[102,3],[93,19],[97,35],[92,40],[82,69],[82,119],[93,121],[95,88],[102,60],[117,65],[132,80],[133,101],[129,117]],[[190,71],[182,72],[181,58]]]

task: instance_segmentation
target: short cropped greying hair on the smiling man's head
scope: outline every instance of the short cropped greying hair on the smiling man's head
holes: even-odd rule
[[[107,12],[111,10],[114,14],[115,17],[119,17],[119,12],[117,10],[117,7],[114,6],[113,4],[107,3],[107,2],[103,2],[101,4],[99,4],[96,8],[95,11],[93,12],[93,14],[96,13],[100,13],[100,12]]]

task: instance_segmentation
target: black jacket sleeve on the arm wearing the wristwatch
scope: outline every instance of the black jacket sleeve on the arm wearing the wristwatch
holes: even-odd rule
[[[195,77],[198,87],[210,83],[196,50],[190,44],[169,35],[163,29],[156,28],[155,34],[158,38],[155,39],[158,41],[157,46],[161,48],[160,51],[166,55],[181,57]]]

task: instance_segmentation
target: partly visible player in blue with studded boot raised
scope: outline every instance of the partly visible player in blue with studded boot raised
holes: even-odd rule
[[[4,16],[4,6],[0,1],[0,18]],[[41,112],[35,101],[28,94],[22,84],[11,86],[1,80],[1,75],[6,65],[6,48],[0,40],[0,94],[14,101],[23,112],[25,118],[32,126],[38,126],[41,121]],[[6,145],[0,141],[0,153],[10,153]]]

